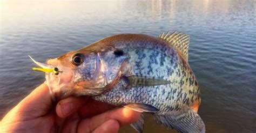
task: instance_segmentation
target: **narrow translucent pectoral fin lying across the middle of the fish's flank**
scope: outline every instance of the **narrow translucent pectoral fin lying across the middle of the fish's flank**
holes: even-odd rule
[[[157,78],[157,77],[149,77],[149,76],[128,76],[124,77],[129,84],[126,88],[138,87],[138,86],[155,86],[155,85],[164,85],[170,84],[170,81]]]

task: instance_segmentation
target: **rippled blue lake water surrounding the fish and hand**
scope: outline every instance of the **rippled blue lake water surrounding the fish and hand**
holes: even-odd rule
[[[190,34],[189,63],[201,87],[207,132],[256,131],[256,2],[1,1],[0,118],[43,83],[39,62],[106,36]],[[175,132],[147,115],[145,132]],[[131,132],[129,126],[120,132]]]

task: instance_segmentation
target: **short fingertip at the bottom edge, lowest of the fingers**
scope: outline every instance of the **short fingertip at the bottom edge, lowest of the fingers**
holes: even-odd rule
[[[117,120],[107,120],[98,128],[96,128],[93,133],[101,133],[101,132],[118,132],[120,125]]]

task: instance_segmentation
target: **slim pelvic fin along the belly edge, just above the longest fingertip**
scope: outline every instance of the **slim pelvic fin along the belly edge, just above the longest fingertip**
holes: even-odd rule
[[[152,105],[147,105],[147,104],[128,104],[128,105],[124,105],[124,107],[137,112],[156,113],[159,111],[159,109],[157,109],[156,107]]]

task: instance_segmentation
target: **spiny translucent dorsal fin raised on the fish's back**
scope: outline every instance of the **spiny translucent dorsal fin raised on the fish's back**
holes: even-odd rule
[[[186,60],[188,60],[188,46],[190,45],[190,35],[183,34],[181,32],[163,32],[158,36],[159,39],[163,39],[171,46],[178,49]]]

